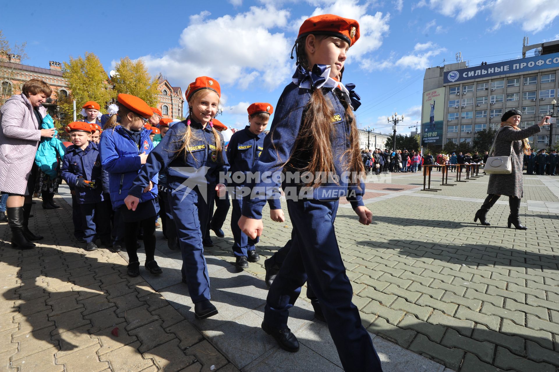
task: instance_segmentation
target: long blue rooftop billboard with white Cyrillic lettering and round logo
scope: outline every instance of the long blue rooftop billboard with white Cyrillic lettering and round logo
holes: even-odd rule
[[[457,83],[492,76],[524,73],[546,68],[559,68],[559,53],[513,59],[476,67],[461,68],[444,73],[444,84]]]

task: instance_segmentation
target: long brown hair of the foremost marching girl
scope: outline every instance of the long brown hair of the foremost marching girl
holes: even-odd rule
[[[311,66],[309,66],[309,59],[305,51],[306,37],[307,36],[297,39],[295,50],[297,63],[299,63],[302,68],[310,70]],[[316,35],[316,40],[321,41],[327,37],[329,36]],[[361,149],[359,148],[357,123],[351,106],[345,102],[340,93],[336,92],[336,95],[340,98],[340,102],[345,108],[345,121],[350,127],[347,138],[349,140],[349,147],[342,155],[342,159],[345,160],[343,171],[351,172],[352,177],[350,178],[350,183],[359,185],[358,178],[363,176],[364,167],[361,158]],[[326,99],[321,89],[314,89],[309,102],[305,106],[301,128],[295,140],[295,150],[290,158],[282,164],[282,167],[289,164],[292,169],[301,172],[310,172],[314,176],[318,175],[319,172],[335,172],[334,156],[332,152],[333,125],[331,124],[331,119],[333,116],[334,108],[331,102]],[[271,134],[271,139],[273,143],[273,132]],[[291,162],[293,154],[304,151],[311,152],[310,161],[308,164],[301,164],[301,166],[297,167],[294,164],[295,162]],[[314,180],[307,183],[306,186],[319,187],[322,181],[321,177],[314,177]]]

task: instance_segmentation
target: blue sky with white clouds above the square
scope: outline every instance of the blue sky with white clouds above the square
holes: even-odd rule
[[[196,76],[221,84],[226,125],[244,128],[252,102],[276,105],[294,70],[289,58],[302,20],[335,13],[355,18],[362,37],[349,50],[344,82],[355,83],[359,126],[389,133],[386,116],[405,114],[399,133],[420,120],[427,67],[519,58],[530,44],[559,39],[559,7],[550,0],[221,0],[6,2],[0,26],[8,40],[27,41],[26,64],[90,51],[107,72],[122,56],[143,58],[184,88]],[[39,26],[32,26],[33,23]],[[25,26],[25,24],[29,26]],[[45,25],[48,29],[44,29]]]

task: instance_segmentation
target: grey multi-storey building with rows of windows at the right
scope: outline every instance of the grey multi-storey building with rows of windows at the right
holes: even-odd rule
[[[557,114],[552,101],[558,101],[559,41],[536,44],[537,53],[529,58],[468,67],[465,62],[425,70],[423,81],[422,144],[443,145],[472,143],[476,133],[498,129],[504,112],[522,112],[520,128],[538,123],[545,115]],[[524,48],[526,49],[526,48]],[[433,115],[428,95],[437,94],[444,111],[440,111],[442,128],[435,130],[438,119]],[[444,99],[440,98],[444,95]],[[440,135],[431,132],[442,130]],[[559,130],[544,126],[541,133],[529,138],[533,148],[547,148],[559,142]],[[435,140],[429,140],[436,138]]]

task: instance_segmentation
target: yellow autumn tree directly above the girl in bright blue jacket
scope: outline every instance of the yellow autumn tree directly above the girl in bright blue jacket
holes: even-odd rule
[[[140,97],[149,106],[155,107],[159,102],[157,79],[151,78],[142,59],[132,61],[128,56],[121,58],[115,65],[112,83],[115,92]]]

